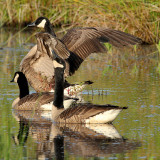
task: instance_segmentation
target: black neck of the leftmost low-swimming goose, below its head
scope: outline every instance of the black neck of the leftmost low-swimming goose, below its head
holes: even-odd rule
[[[23,82],[18,82],[18,86],[20,91],[20,94],[19,94],[20,99],[29,94],[29,87],[28,87],[27,80]]]

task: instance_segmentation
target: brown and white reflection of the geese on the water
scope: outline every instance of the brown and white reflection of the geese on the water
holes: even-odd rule
[[[13,140],[24,146],[31,137],[37,144],[37,159],[64,159],[66,152],[75,157],[105,157],[141,146],[140,142],[123,138],[112,124],[54,124],[42,114],[46,113],[13,111],[20,126]]]

